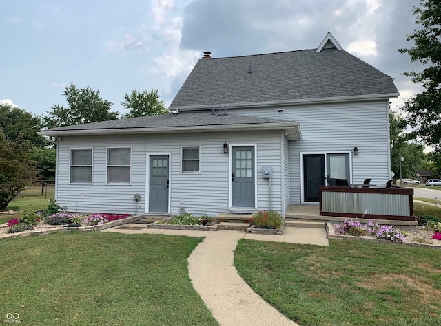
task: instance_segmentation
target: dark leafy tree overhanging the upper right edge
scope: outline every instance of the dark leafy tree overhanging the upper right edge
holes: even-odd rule
[[[407,36],[414,47],[398,49],[411,56],[411,61],[424,65],[422,72],[404,72],[413,83],[422,83],[423,91],[404,101],[402,109],[408,113],[407,120],[413,133],[424,144],[431,145],[441,152],[441,1],[422,0],[419,7],[413,8],[416,23],[421,28]]]

